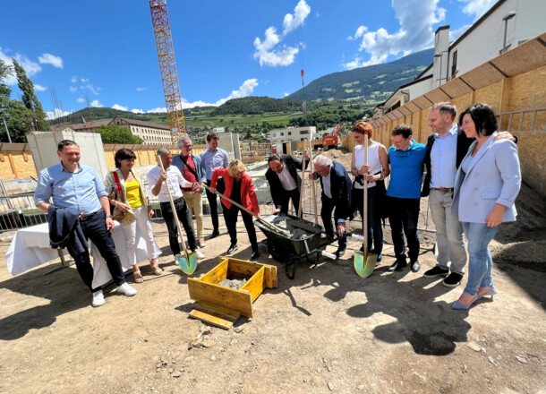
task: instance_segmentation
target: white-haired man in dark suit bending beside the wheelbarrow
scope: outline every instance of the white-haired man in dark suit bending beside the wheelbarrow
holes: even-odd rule
[[[334,220],[337,223],[337,236],[339,236],[339,246],[337,248],[337,257],[345,254],[347,248],[346,238],[346,218],[351,214],[351,179],[347,175],[345,167],[335,160],[331,160],[326,156],[318,156],[313,160],[315,172],[309,175],[310,179],[320,179],[322,186],[322,209],[320,210],[320,218],[326,235],[330,238],[334,237],[334,227],[332,226],[332,211],[334,212]]]

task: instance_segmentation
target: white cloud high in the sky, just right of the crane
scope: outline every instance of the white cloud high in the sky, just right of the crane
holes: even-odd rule
[[[287,13],[283,21],[282,36],[277,34],[277,29],[270,26],[265,31],[263,41],[256,37],[254,39],[254,59],[260,61],[260,65],[269,65],[277,67],[278,65],[289,65],[294,63],[294,56],[299,52],[298,47],[290,47],[286,45],[280,46],[286,35],[303,24],[305,18],[311,13],[311,7],[305,3],[305,0],[300,2],[294,8],[294,14]]]

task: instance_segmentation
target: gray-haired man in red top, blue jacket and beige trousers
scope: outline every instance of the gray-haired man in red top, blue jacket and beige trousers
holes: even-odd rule
[[[173,157],[173,166],[177,167],[182,173],[183,178],[192,184],[198,183],[198,188],[183,187],[183,199],[188,205],[190,215],[195,215],[197,222],[197,240],[199,246],[205,247],[205,238],[203,237],[203,189],[207,183],[207,174],[200,156],[192,154],[192,140],[189,137],[181,137],[176,141],[180,149],[180,155]]]

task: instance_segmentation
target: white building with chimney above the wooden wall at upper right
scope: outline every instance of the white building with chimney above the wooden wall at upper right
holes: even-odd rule
[[[541,35],[545,31],[544,15],[544,0],[499,0],[451,44],[449,25],[439,27],[434,35],[434,62],[414,81],[399,86],[385,102],[375,107],[373,118],[378,119],[487,63],[505,49],[508,51]]]

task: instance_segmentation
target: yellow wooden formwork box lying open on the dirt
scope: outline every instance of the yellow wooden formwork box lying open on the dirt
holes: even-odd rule
[[[252,303],[266,287],[277,287],[277,267],[226,256],[218,261],[201,278],[188,278],[190,298],[197,301],[190,317],[228,330],[241,315],[252,317]],[[247,281],[239,290],[218,285],[226,278]]]

